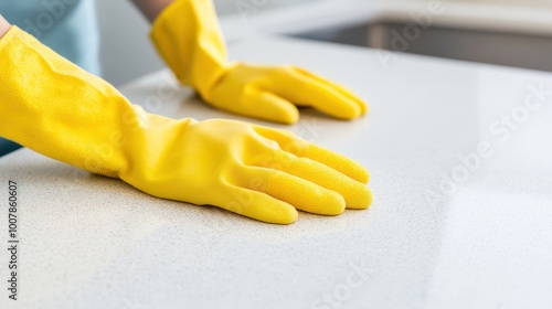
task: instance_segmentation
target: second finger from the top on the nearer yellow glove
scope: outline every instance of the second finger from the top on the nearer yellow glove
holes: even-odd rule
[[[262,168],[276,169],[335,191],[344,199],[348,209],[367,209],[372,203],[372,192],[365,184],[328,166],[285,151],[275,151],[274,157]]]

